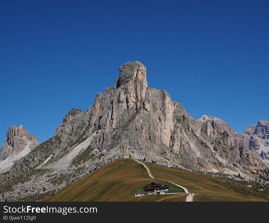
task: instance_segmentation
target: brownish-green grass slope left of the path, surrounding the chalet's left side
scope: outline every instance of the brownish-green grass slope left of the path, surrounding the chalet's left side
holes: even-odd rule
[[[185,201],[186,194],[132,197],[152,182],[144,166],[132,159],[115,160],[43,201]],[[165,182],[164,182],[165,183]],[[166,182],[167,183],[167,182]]]

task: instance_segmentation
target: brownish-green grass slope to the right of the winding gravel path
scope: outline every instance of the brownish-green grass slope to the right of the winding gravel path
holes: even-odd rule
[[[154,177],[169,180],[185,186],[194,192],[193,201],[269,201],[269,187],[258,191],[258,182],[236,181],[230,178],[222,180],[205,174],[191,173],[185,170],[168,168],[146,163]],[[256,188],[248,188],[252,184]]]

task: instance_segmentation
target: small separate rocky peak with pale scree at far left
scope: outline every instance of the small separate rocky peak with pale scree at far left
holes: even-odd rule
[[[15,161],[27,155],[38,145],[37,137],[30,135],[22,125],[10,126],[6,133],[6,141],[0,150],[0,173],[8,171]]]

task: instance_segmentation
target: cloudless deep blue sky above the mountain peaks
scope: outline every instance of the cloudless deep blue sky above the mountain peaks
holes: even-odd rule
[[[135,60],[195,119],[269,120],[269,3],[216,2],[1,1],[0,144],[10,125],[52,137]]]

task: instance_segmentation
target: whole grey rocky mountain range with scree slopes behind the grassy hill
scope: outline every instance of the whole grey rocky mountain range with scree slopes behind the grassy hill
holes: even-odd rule
[[[165,90],[148,87],[138,61],[120,67],[114,86],[93,106],[68,112],[42,144],[11,126],[0,150],[1,200],[54,194],[120,158],[245,180],[269,178],[269,122],[242,134],[207,115],[193,119]]]

